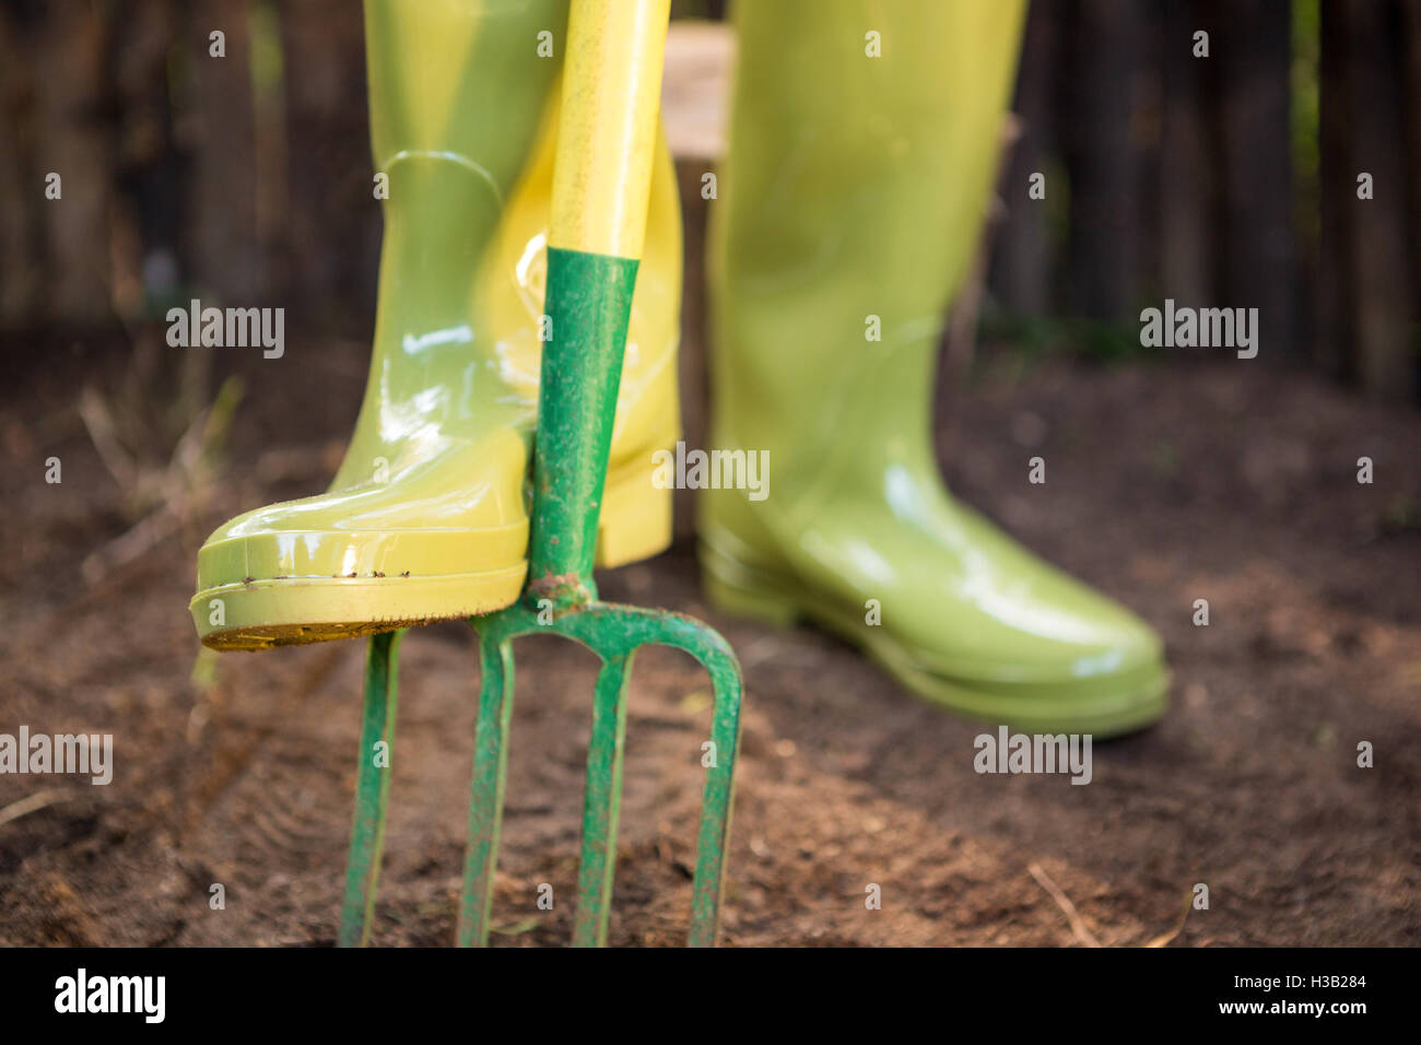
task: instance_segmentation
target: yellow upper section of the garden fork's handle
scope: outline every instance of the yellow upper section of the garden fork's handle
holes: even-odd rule
[[[639,259],[671,0],[573,0],[549,246]]]

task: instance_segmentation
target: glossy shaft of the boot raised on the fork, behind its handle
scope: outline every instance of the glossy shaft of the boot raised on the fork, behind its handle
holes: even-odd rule
[[[514,428],[530,439],[549,333],[567,0],[367,0],[365,20],[388,196],[371,377],[335,488],[442,438]],[[615,421],[624,463],[678,428],[679,220],[662,138]]]

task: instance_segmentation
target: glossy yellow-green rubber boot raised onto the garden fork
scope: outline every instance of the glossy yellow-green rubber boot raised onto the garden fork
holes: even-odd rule
[[[367,0],[371,136],[388,175],[369,382],[330,492],[237,516],[198,553],[190,609],[206,645],[469,617],[522,590],[566,23],[566,0]],[[539,54],[543,31],[558,57]],[[679,434],[679,300],[662,141],[600,566],[671,542],[671,491],[651,475]]]

